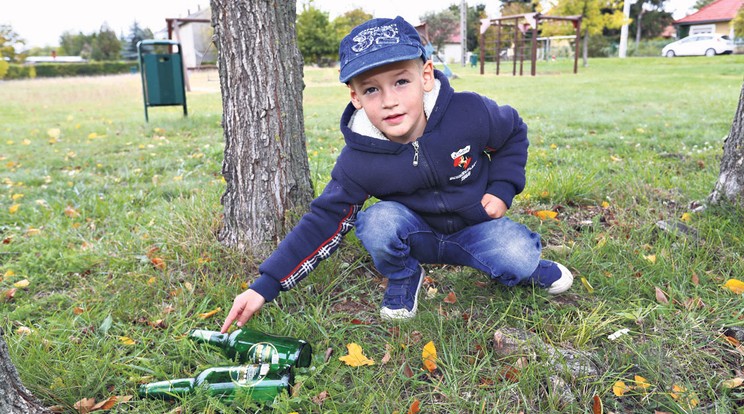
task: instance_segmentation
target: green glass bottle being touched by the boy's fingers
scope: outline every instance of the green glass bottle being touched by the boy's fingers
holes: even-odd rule
[[[192,329],[189,338],[222,348],[232,360],[241,364],[271,364],[273,371],[282,367],[309,367],[313,350],[302,339],[269,335],[252,329],[238,329],[231,334]]]

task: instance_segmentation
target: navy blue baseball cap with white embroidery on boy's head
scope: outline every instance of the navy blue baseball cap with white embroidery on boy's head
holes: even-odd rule
[[[388,63],[426,60],[426,50],[416,29],[398,16],[368,20],[351,29],[341,40],[338,57],[341,62],[338,78],[349,83],[354,76]]]

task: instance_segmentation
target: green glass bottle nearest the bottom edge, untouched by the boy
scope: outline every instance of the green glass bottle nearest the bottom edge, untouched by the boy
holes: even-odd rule
[[[283,391],[291,391],[294,378],[289,369],[271,371],[268,364],[208,368],[195,378],[151,382],[139,387],[142,398],[176,399],[194,393],[200,387],[207,394],[232,401],[246,395],[253,401],[271,402]]]

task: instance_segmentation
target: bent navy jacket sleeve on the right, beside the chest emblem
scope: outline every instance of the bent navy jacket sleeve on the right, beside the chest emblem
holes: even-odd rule
[[[489,138],[486,152],[490,158],[486,192],[511,207],[514,196],[524,190],[527,165],[527,124],[510,106],[498,106],[483,98],[489,112]]]

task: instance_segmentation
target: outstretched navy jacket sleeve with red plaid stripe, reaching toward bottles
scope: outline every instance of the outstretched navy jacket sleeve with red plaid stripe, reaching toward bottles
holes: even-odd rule
[[[367,194],[335,177],[336,172],[334,168],[323,193],[310,203],[310,211],[259,266],[260,275],[250,288],[267,302],[280,291],[295,287],[338,248],[343,236],[354,227]]]

